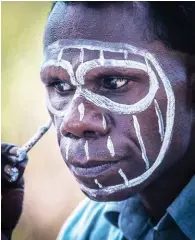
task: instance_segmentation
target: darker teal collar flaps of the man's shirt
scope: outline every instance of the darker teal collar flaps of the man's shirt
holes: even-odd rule
[[[175,223],[188,238],[195,239],[195,176],[155,227],[136,195],[125,201],[106,204],[105,217],[111,224],[119,227],[127,239],[127,236],[138,238],[149,228],[163,230]]]

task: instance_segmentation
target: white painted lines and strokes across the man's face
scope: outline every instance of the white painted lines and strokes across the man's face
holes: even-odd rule
[[[73,67],[71,66],[71,64],[68,61],[61,59],[61,56],[62,56],[61,52],[63,52],[64,49],[70,49],[70,48],[80,49],[81,51],[81,55],[80,55],[81,64],[78,66],[75,74],[73,72]],[[99,59],[83,62],[84,49],[100,51]],[[105,59],[104,51],[112,52],[112,53],[113,52],[123,53],[124,60]],[[139,175],[138,177],[128,180],[128,187],[134,187],[142,183],[143,181],[145,181],[148,177],[150,177],[150,175],[155,171],[155,169],[163,161],[163,158],[169,148],[171,138],[172,138],[172,129],[174,124],[174,116],[175,116],[175,97],[172,90],[172,86],[169,82],[169,79],[167,78],[164,71],[162,70],[161,66],[155,59],[155,57],[151,53],[149,53],[147,50],[136,48],[130,44],[109,43],[109,42],[100,42],[100,41],[94,41],[94,40],[91,40],[91,41],[90,40],[59,40],[58,43],[50,45],[46,53],[48,53],[48,56],[46,56],[47,59],[51,59],[51,60],[44,62],[41,70],[43,71],[44,68],[46,68],[47,66],[57,66],[57,67],[60,66],[61,68],[66,70],[70,76],[71,83],[75,86],[80,85],[79,89],[77,89],[78,91],[76,91],[77,96],[82,96],[89,102],[95,104],[96,106],[107,109],[116,114],[131,114],[131,115],[133,114],[134,115],[133,118],[134,118],[135,131],[136,131],[140,148],[142,151],[142,157],[146,164],[146,171],[143,174]],[[59,54],[61,55],[59,56]],[[138,61],[127,60],[127,58],[129,57],[129,54],[134,54],[134,55],[143,57],[145,59],[145,64],[140,63]],[[58,60],[58,56],[61,59],[60,61]],[[90,70],[97,67],[101,67],[102,65],[105,67],[111,66],[111,67],[123,67],[127,69],[138,69],[146,72],[149,75],[149,91],[147,95],[143,97],[141,100],[139,100],[138,102],[131,105],[127,105],[127,104],[120,104],[120,103],[114,102],[106,98],[105,96],[100,96],[82,87],[82,85],[84,85],[85,83],[85,75]],[[159,88],[159,82],[157,80],[156,72],[158,73],[158,77],[162,83],[162,86],[165,90],[166,97],[167,97],[167,111],[166,111],[166,124],[165,124],[166,128],[164,127],[160,108],[158,106],[158,103],[155,100],[155,96]],[[156,114],[158,117],[159,132],[161,135],[162,146],[153,165],[149,167],[149,161],[147,159],[146,149],[144,147],[144,143],[141,137],[138,119],[135,116],[135,114],[145,111],[152,104],[154,104],[155,106]],[[62,110],[56,109],[55,107],[53,107],[53,103],[51,102],[48,103],[48,109],[54,115],[58,115],[58,116],[65,115],[65,112],[63,109]],[[111,155],[113,155],[114,148],[110,140],[108,140],[107,147]],[[86,149],[88,149],[87,142],[85,144],[85,151]],[[87,152],[88,151],[86,151],[86,156],[88,156]],[[120,173],[122,174],[121,171]],[[121,176],[123,176],[124,178],[123,174]],[[92,196],[95,196],[97,194],[108,195],[113,192],[127,188],[127,182],[124,184],[118,184],[115,186],[103,187],[101,189],[90,189],[88,187],[85,187],[84,185],[81,185],[81,188]]]

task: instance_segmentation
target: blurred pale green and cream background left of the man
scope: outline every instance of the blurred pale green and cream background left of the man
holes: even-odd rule
[[[1,2],[2,141],[19,146],[49,119],[39,68],[51,5]],[[54,240],[83,195],[60,156],[54,127],[32,149],[29,159],[24,210],[13,239]]]

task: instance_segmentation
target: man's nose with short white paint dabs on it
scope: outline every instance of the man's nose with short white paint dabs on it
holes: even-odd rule
[[[73,102],[60,127],[61,134],[72,138],[96,138],[109,131],[108,118],[87,101]]]

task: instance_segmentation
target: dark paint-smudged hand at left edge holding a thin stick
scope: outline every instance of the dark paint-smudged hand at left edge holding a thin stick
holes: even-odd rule
[[[1,144],[1,227],[7,239],[18,223],[24,198],[23,173],[28,157],[26,154],[18,162],[18,149],[8,143]]]

